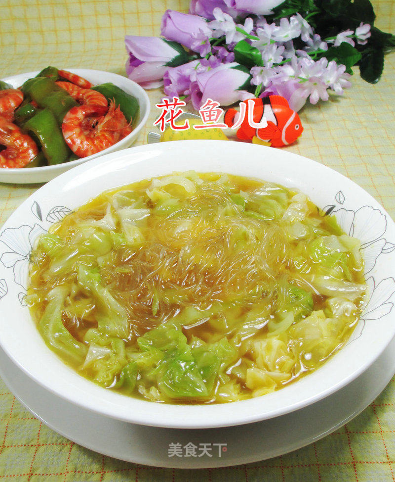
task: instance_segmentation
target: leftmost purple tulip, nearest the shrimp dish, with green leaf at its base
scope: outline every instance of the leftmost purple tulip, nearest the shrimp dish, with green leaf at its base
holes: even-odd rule
[[[146,89],[162,85],[163,74],[172,66],[188,62],[189,56],[181,45],[159,37],[126,35],[126,74]]]

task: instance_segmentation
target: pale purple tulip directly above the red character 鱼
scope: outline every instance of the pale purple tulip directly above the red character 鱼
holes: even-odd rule
[[[221,64],[206,72],[197,72],[191,83],[192,103],[196,110],[208,99],[221,105],[230,105],[237,100],[253,97],[243,90],[250,86],[251,76],[245,67],[237,62]]]

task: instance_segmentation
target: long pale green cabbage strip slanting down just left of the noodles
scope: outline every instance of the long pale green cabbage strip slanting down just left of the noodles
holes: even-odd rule
[[[127,338],[129,336],[129,323],[126,310],[113,297],[108,288],[104,288],[92,273],[82,265],[78,268],[78,283],[88,289],[100,308],[97,325],[102,333],[113,337]]]

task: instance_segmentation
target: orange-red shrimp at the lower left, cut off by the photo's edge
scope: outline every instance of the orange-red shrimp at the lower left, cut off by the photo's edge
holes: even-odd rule
[[[33,139],[24,134],[18,126],[0,115],[0,167],[25,167],[32,161],[39,149]]]

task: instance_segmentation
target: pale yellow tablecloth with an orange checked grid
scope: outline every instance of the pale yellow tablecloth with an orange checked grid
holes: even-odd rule
[[[1,77],[47,65],[124,75],[125,34],[158,35],[167,9],[188,0],[0,0]],[[374,0],[376,25],[395,32],[395,1]],[[307,106],[304,133],[287,150],[341,172],[395,218],[395,53],[377,85],[358,73],[343,98]],[[149,92],[152,105],[160,90]],[[145,144],[157,112],[138,144]],[[0,184],[0,225],[39,185]],[[1,317],[1,313],[0,313]],[[70,442],[34,418],[0,380],[0,478],[50,481],[395,481],[395,379],[356,419],[305,448],[226,469],[138,466]],[[325,456],[323,456],[325,454]]]

